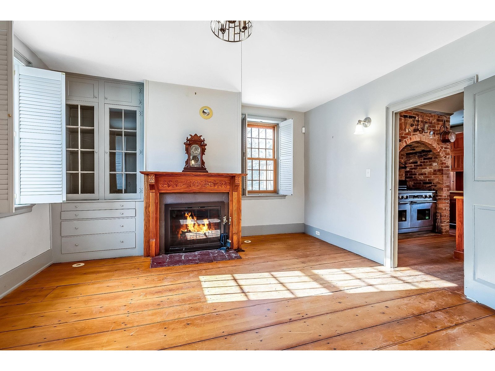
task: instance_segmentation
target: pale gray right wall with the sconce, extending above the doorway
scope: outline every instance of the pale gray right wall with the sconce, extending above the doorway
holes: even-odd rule
[[[383,250],[385,107],[475,74],[480,80],[495,75],[494,41],[492,23],[306,112],[305,224]],[[366,116],[371,126],[354,136]]]

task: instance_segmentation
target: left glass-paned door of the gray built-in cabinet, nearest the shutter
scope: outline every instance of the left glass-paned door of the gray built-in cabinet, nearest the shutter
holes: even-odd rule
[[[66,101],[67,199],[98,199],[98,103]]]

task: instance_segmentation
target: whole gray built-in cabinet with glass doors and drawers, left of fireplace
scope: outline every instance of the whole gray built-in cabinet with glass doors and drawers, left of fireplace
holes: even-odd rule
[[[66,75],[65,86],[67,202],[51,205],[53,259],[141,255],[143,84]]]

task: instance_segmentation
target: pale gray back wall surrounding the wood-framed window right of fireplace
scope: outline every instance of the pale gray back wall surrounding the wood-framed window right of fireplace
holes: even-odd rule
[[[304,223],[304,113],[251,106],[243,106],[242,112],[294,119],[294,194],[285,199],[243,199],[243,227]]]

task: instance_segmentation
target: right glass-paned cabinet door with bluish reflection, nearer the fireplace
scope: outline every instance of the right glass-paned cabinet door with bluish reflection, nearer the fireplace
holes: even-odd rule
[[[139,108],[105,104],[105,198],[140,198]]]

